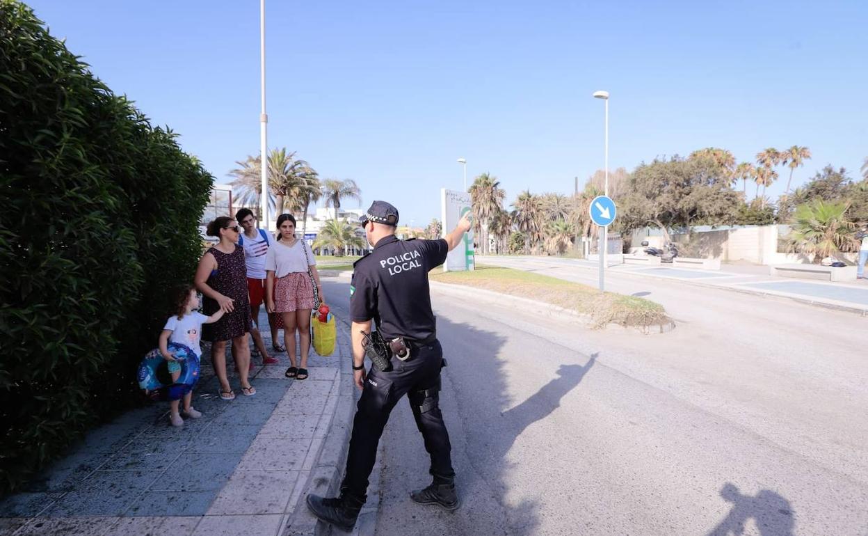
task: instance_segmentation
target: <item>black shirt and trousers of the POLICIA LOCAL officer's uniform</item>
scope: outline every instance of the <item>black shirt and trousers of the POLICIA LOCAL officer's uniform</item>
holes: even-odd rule
[[[404,337],[410,357],[391,357],[391,370],[372,367],[365,379],[346,460],[346,492],[365,500],[368,477],[389,414],[408,395],[413,417],[431,454],[434,480],[452,482],[449,433],[438,405],[443,348],[431,310],[428,272],[444,263],[449,247],[440,240],[382,238],[370,255],[353,265],[350,314],[357,322],[373,320],[385,341]]]

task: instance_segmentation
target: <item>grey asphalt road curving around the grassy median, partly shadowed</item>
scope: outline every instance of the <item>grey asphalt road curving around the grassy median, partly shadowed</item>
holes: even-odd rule
[[[402,401],[378,534],[868,534],[865,319],[677,281],[609,288],[648,293],[678,328],[593,331],[435,292],[464,506],[409,499],[428,460]]]

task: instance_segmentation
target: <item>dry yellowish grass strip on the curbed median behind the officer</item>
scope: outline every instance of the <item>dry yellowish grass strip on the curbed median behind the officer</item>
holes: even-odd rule
[[[484,288],[503,294],[531,298],[545,303],[589,314],[595,328],[610,322],[625,327],[659,326],[671,320],[659,303],[564,281],[549,275],[539,275],[514,268],[477,266],[470,272],[431,271],[431,281],[441,281],[473,288]]]

